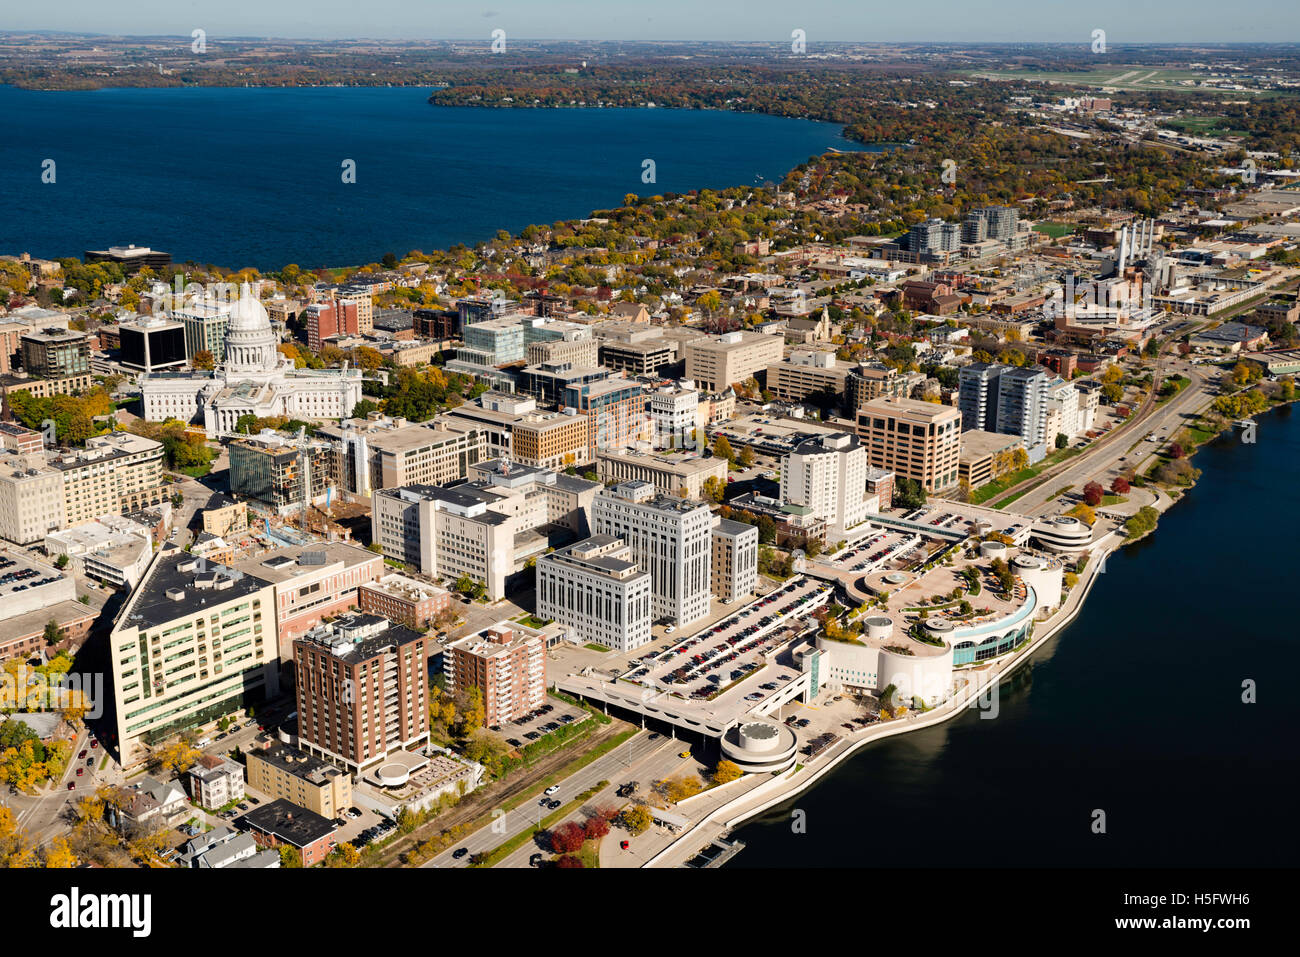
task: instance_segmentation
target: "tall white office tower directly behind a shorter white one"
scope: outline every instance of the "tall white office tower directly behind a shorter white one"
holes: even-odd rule
[[[707,505],[668,498],[650,482],[602,489],[592,508],[595,534],[620,538],[650,572],[654,616],[676,627],[708,615],[714,514]]]

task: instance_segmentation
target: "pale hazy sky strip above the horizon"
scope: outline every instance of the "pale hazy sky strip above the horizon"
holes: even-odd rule
[[[1295,43],[1300,3],[1252,0],[60,0],[0,30],[122,35],[580,40]]]

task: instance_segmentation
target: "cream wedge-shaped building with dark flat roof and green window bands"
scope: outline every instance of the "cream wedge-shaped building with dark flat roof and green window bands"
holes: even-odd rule
[[[280,693],[269,581],[164,546],[109,636],[124,766],[156,744]]]

